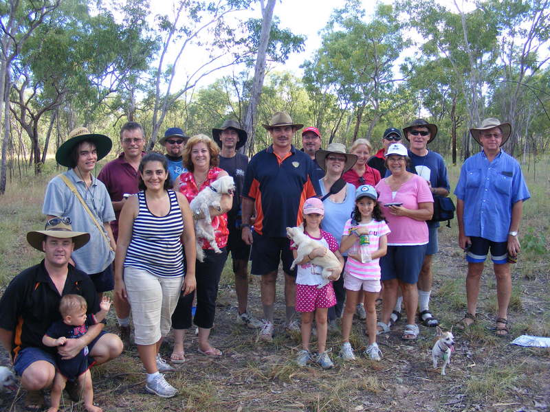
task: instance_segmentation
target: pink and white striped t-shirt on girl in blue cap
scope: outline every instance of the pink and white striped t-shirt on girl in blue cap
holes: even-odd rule
[[[372,255],[380,247],[380,238],[390,233],[390,228],[386,225],[384,220],[379,222],[378,220],[372,219],[368,223],[359,222],[358,225],[352,225],[351,219],[348,219],[344,225],[344,233],[342,233],[342,236],[349,236],[350,229],[360,226],[369,228],[369,252]],[[355,246],[359,247],[359,238],[355,240]],[[373,259],[371,262],[362,263],[351,258],[348,250],[348,260],[344,272],[358,277],[359,279],[380,279],[380,264],[378,264],[378,260],[379,259]]]

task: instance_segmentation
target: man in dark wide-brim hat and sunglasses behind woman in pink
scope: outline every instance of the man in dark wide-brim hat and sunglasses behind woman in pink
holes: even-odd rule
[[[424,119],[415,119],[403,129],[409,141],[408,157],[414,172],[428,181],[433,196],[448,196],[450,184],[445,161],[439,153],[428,150],[428,144],[437,136],[437,126]],[[439,222],[428,220],[428,246],[418,276],[418,310],[424,326],[435,327],[439,320],[430,312],[430,295],[432,293],[432,257],[439,251],[437,231]],[[401,302],[398,299],[398,304]],[[397,312],[400,308],[395,308]]]

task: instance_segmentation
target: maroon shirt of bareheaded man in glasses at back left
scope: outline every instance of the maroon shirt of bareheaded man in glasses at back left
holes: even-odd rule
[[[142,152],[143,155],[145,155],[144,152]],[[137,188],[137,176],[137,170],[124,160],[124,152],[122,152],[118,158],[103,166],[101,172],[98,174],[98,179],[107,187],[111,202],[120,202],[125,193],[136,194],[140,191]],[[119,215],[120,210],[115,210],[116,220],[111,222],[111,229],[113,229],[115,240],[118,238]]]

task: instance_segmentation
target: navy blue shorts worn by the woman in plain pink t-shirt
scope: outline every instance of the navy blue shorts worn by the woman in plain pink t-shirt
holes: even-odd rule
[[[424,262],[427,244],[415,246],[388,246],[388,253],[380,258],[381,279],[399,279],[415,284]]]

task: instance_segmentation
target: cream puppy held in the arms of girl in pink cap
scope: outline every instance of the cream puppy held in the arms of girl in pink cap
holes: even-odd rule
[[[296,250],[296,259],[292,262],[290,266],[291,270],[294,269],[294,266],[299,262],[304,260],[305,256],[309,255],[314,249],[318,247],[324,247],[321,242],[315,239],[311,239],[304,233],[303,227],[287,227],[287,236],[289,239],[294,242],[294,245],[298,248]],[[338,271],[342,271],[342,266],[340,266],[340,261],[336,258],[336,255],[327,249],[327,253],[322,256],[316,256],[314,260],[311,260],[312,264],[322,267],[321,277],[322,282],[317,287],[322,288],[327,283],[329,283],[329,276],[333,274],[332,269],[338,268]]]

